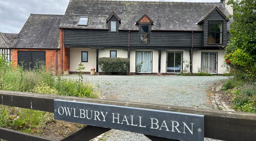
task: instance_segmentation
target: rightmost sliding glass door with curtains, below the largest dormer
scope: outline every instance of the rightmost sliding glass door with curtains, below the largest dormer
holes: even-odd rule
[[[217,53],[202,52],[201,71],[210,74],[217,73]]]

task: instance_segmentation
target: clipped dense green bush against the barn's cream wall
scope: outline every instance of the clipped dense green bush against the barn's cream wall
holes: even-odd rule
[[[99,58],[99,67],[106,74],[128,74],[128,67],[130,65],[130,60],[128,58],[110,58],[101,57]]]

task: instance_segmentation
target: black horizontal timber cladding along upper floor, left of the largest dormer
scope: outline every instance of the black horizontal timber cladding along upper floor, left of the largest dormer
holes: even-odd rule
[[[140,32],[130,31],[130,48],[149,49],[190,49],[192,32],[150,32],[150,44],[140,44]],[[193,46],[202,48],[203,32],[193,33]],[[128,48],[128,31],[109,32],[108,30],[65,29],[64,44],[70,47],[89,48]]]

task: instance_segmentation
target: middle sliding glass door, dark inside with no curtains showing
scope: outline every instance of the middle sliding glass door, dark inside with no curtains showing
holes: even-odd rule
[[[166,57],[166,73],[182,72],[182,52],[167,52]]]

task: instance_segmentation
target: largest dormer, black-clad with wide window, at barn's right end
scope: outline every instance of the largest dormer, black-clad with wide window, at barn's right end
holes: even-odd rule
[[[214,6],[206,12],[197,24],[203,29],[203,47],[218,48],[227,45],[227,20],[226,15]]]

